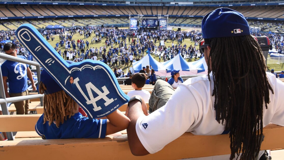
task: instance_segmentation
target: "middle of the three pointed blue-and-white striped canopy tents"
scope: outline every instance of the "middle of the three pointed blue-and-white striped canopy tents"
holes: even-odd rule
[[[180,75],[195,75],[197,69],[191,64],[185,61],[180,54],[177,54],[173,59],[162,63],[167,70],[167,76],[171,75],[173,69],[180,70]]]

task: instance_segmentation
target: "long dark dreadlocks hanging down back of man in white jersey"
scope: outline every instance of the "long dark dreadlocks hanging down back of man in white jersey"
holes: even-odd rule
[[[212,71],[216,120],[229,130],[230,160],[254,159],[263,135],[263,105],[267,109],[269,90],[266,64],[258,42],[250,35],[210,38],[208,78]]]

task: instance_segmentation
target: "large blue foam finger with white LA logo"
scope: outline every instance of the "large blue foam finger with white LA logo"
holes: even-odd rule
[[[21,25],[16,36],[88,117],[104,117],[129,101],[105,63],[87,59],[68,64],[30,24]],[[73,84],[69,82],[70,77],[73,77]]]

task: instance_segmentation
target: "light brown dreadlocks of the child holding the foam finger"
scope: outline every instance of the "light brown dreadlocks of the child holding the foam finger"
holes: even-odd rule
[[[39,93],[43,94],[47,90],[45,85],[39,83]],[[63,90],[51,94],[45,94],[43,99],[43,124],[48,121],[49,126],[55,120],[56,126],[59,127],[60,122],[63,124],[64,119],[67,120],[67,114],[69,118],[74,115],[73,106],[77,110],[77,104],[68,94]]]

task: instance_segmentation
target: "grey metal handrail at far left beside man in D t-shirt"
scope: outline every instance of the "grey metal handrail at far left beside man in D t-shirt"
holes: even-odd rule
[[[25,64],[28,64],[28,65],[36,66],[37,79],[40,80],[40,65],[39,65],[39,63],[29,61],[29,60],[26,60],[26,59],[21,59],[21,58],[14,57],[14,56],[11,56],[11,55],[7,55],[7,54],[4,54],[4,53],[0,53],[0,58],[6,59],[6,60],[9,60],[9,61],[14,61],[14,62],[18,62],[18,63],[25,63]],[[2,107],[3,115],[9,115],[7,103],[40,98],[40,104],[41,104],[41,106],[43,105],[43,95],[42,94],[6,98],[1,68],[0,68],[0,86],[1,86],[1,88],[0,88],[0,104],[1,104],[1,107]],[[8,140],[13,140],[12,132],[6,132],[6,133],[7,133]]]

